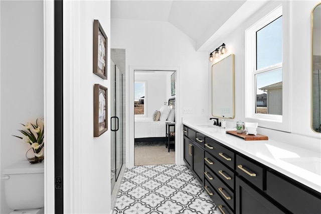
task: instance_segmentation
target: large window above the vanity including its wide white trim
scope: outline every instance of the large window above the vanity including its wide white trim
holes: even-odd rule
[[[269,4],[245,31],[245,118],[290,131],[288,12],[283,7],[288,10],[286,3]]]

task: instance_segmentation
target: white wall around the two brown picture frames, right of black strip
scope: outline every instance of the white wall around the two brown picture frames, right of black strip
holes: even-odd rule
[[[92,71],[94,19],[108,37],[107,80]],[[64,2],[65,213],[111,212],[110,108],[108,131],[93,137],[93,88],[110,87],[110,40],[110,1]]]

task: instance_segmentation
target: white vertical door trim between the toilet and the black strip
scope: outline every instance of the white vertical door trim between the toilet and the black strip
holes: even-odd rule
[[[54,1],[44,1],[45,213],[55,213]]]

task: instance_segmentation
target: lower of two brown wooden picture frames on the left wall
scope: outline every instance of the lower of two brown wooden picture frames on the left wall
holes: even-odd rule
[[[108,88],[94,85],[94,137],[108,130]]]

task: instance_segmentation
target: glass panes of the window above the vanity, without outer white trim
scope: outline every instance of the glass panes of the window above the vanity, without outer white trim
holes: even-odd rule
[[[282,16],[256,31],[255,113],[282,115]]]

